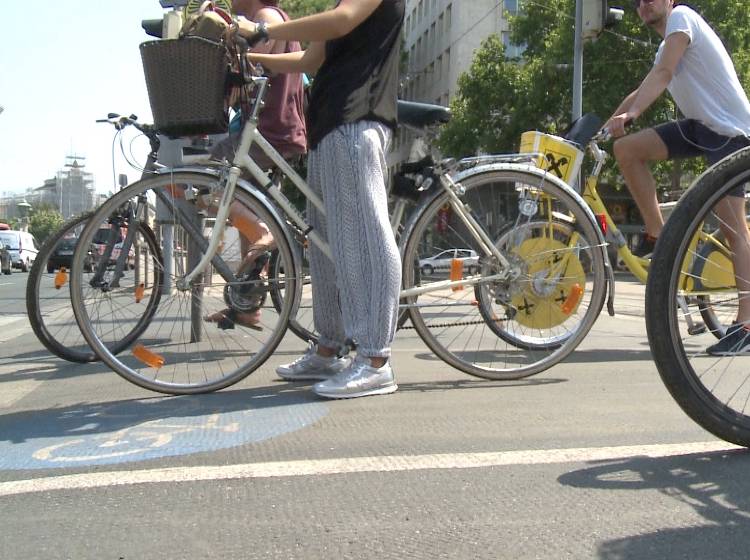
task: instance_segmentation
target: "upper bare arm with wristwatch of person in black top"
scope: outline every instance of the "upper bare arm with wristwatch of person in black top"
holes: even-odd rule
[[[268,39],[283,41],[324,42],[338,39],[351,33],[380,6],[383,0],[341,0],[331,10],[283,23],[266,25]],[[249,37],[256,31],[256,24],[246,18],[238,18],[239,31]]]

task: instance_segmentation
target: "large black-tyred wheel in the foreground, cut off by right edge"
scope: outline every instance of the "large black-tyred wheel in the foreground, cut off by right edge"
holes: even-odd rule
[[[646,285],[646,330],[665,386],[697,424],[723,440],[746,447],[750,446],[747,358],[707,354],[703,349],[716,342],[710,332],[684,336],[685,311],[680,309],[677,297],[685,281],[685,259],[699,256],[699,251],[690,253],[693,236],[711,223],[715,206],[733,189],[744,186],[747,193],[748,181],[748,149],[722,160],[697,179],[659,236]],[[731,289],[720,289],[723,300],[733,299],[727,298]],[[736,292],[736,286],[733,289]],[[718,303],[712,299],[712,305]],[[734,309],[734,302],[729,305]],[[700,313],[700,309],[688,313]]]

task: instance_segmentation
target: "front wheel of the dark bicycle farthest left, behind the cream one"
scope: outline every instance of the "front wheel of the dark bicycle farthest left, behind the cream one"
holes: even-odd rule
[[[79,363],[94,361],[97,355],[89,347],[76,323],[70,303],[69,278],[72,274],[71,264],[79,235],[93,215],[94,212],[86,212],[69,219],[44,242],[31,267],[26,284],[26,309],[34,334],[53,354],[64,360]],[[161,259],[154,234],[146,224],[140,225],[135,247],[142,262],[147,262],[151,258]],[[90,276],[93,273],[96,258],[94,251],[88,252],[83,259],[80,271],[82,275]],[[136,278],[137,270],[130,270],[128,274],[133,280]],[[159,282],[158,277],[153,276],[138,281],[141,280],[144,287],[145,283]],[[150,297],[143,301],[145,311],[139,310],[139,315],[148,315],[149,309],[158,305],[159,292],[149,293]],[[110,341],[111,352],[120,352],[139,336],[144,327],[142,322],[128,324],[133,327],[130,332],[123,330],[117,340]]]

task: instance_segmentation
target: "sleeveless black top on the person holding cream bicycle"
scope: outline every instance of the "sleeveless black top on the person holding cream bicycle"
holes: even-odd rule
[[[396,127],[401,27],[406,0],[382,0],[348,35],[326,43],[307,111],[311,149],[338,126],[373,120]]]

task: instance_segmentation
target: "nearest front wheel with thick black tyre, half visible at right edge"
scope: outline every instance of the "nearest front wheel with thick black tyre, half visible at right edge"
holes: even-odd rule
[[[748,181],[748,149],[698,179],[659,236],[646,286],[649,343],[667,389],[695,422],[743,446],[750,446],[750,357],[746,333],[727,327],[750,295]],[[709,310],[709,329],[689,328]]]

